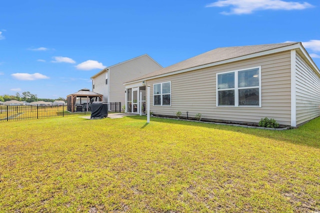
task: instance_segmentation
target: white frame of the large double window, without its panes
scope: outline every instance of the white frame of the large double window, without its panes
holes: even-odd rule
[[[258,69],[258,73],[259,73],[259,86],[254,86],[254,87],[238,87],[238,72],[239,71],[244,71],[244,70],[250,70],[250,69]],[[230,73],[230,72],[234,72],[234,106],[230,106],[230,105],[219,105],[219,93],[218,91],[223,91],[223,90],[232,90],[232,88],[228,88],[228,89],[218,89],[218,75],[219,74],[225,74],[225,73]],[[237,69],[237,70],[232,70],[232,71],[227,71],[227,72],[219,72],[215,74],[215,94],[216,94],[216,107],[246,107],[246,108],[257,108],[257,107],[261,107],[261,66],[255,66],[255,67],[249,67],[249,68],[245,68],[245,69]],[[254,89],[254,88],[259,88],[259,105],[254,106],[254,105],[247,105],[247,106],[239,106],[239,89]]]

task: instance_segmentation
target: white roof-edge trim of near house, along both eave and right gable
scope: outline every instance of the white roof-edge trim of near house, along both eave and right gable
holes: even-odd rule
[[[315,63],[313,62],[313,60],[311,59],[309,54],[306,52],[306,50],[302,46],[301,42],[296,42],[296,43],[293,43],[293,44],[288,45],[288,46],[278,47],[278,48],[269,49],[269,50],[256,52],[256,53],[251,53],[251,54],[248,54],[248,55],[242,55],[242,56],[235,57],[235,58],[230,58],[230,59],[226,59],[226,60],[222,60],[222,61],[203,64],[203,65],[190,67],[190,68],[186,68],[186,69],[181,69],[181,70],[177,70],[177,71],[173,71],[173,72],[168,72],[168,73],[164,73],[164,74],[160,74],[160,75],[155,75],[155,76],[151,76],[151,77],[147,77],[147,78],[140,78],[140,79],[137,79],[137,80],[134,80],[134,81],[125,82],[125,83],[123,83],[123,85],[137,83],[137,82],[140,82],[141,80],[150,80],[150,79],[154,79],[154,78],[166,77],[166,76],[170,76],[170,75],[180,74],[180,73],[183,73],[183,72],[189,72],[189,71],[193,71],[193,70],[197,70],[197,69],[203,69],[203,68],[207,68],[207,67],[211,67],[211,66],[231,63],[231,62],[250,59],[250,58],[255,58],[255,57],[259,57],[259,56],[269,55],[269,54],[273,54],[273,53],[277,53],[277,52],[288,51],[288,50],[292,50],[292,49],[300,49],[302,51],[302,53],[305,55],[305,57],[308,59],[310,64],[314,67],[314,69],[320,75],[320,71],[319,71],[318,67],[315,65]]]

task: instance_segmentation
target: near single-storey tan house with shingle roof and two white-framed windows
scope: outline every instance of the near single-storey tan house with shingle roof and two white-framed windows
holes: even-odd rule
[[[320,116],[320,71],[300,42],[217,48],[124,83],[137,94],[144,84],[155,115],[291,127]]]

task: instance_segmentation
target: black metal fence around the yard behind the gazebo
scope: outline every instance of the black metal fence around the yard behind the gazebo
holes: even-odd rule
[[[110,112],[122,112],[121,103],[108,103]],[[91,105],[23,105],[0,106],[0,122],[66,116],[90,115]]]

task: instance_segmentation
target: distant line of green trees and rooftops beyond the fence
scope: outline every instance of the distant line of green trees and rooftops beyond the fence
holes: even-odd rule
[[[34,102],[34,101],[45,101],[45,102],[53,102],[55,100],[61,100],[65,101],[65,98],[58,97],[57,99],[49,99],[49,98],[38,98],[36,94],[32,94],[30,92],[22,92],[19,94],[18,92],[15,93],[15,95],[0,95],[0,101],[10,101],[10,100],[16,100],[16,101],[26,101],[26,102]]]

